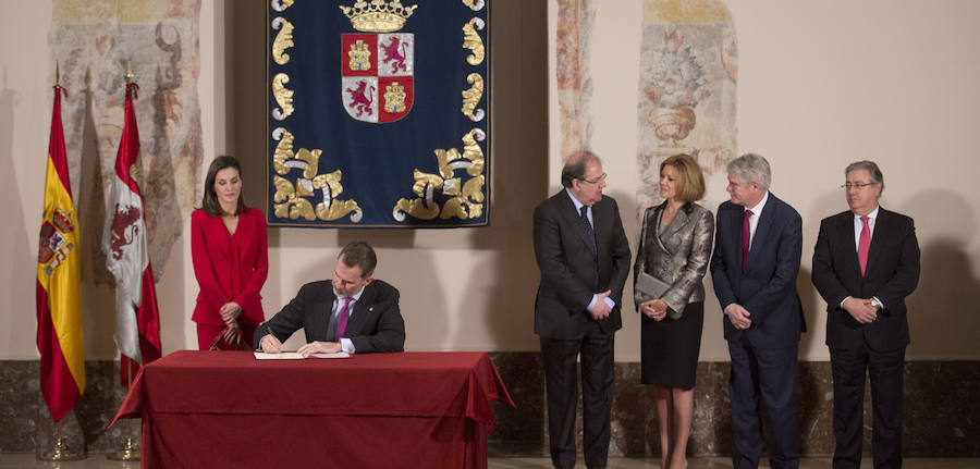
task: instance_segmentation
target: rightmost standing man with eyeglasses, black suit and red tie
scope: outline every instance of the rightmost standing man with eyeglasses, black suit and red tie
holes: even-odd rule
[[[884,176],[872,161],[844,171],[850,210],[820,222],[813,285],[826,301],[834,380],[834,468],[858,468],[865,377],[871,380],[875,468],[902,467],[902,390],[909,343],[905,298],[919,282],[912,219],[883,209]]]

